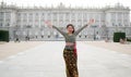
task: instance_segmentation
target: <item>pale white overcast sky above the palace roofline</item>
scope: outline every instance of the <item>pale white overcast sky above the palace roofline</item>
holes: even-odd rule
[[[66,7],[83,7],[83,8],[103,8],[106,5],[115,5],[120,3],[123,7],[129,7],[131,9],[131,0],[0,0],[0,2],[5,2],[7,4],[16,4],[17,7],[58,7],[63,3]],[[131,21],[131,13],[130,13]]]

